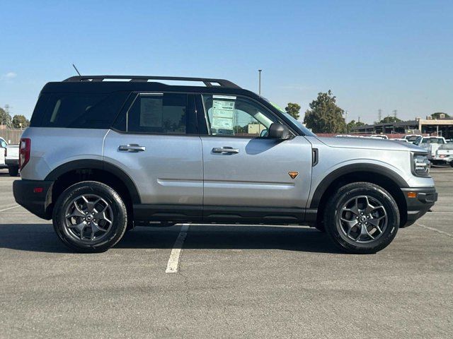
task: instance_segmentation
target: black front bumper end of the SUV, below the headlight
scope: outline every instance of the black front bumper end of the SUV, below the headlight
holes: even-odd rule
[[[416,220],[423,217],[437,201],[435,187],[409,188],[401,189],[401,191],[403,191],[404,197],[406,198],[406,206],[408,209],[406,223],[402,225],[401,228],[408,227]],[[409,192],[415,193],[415,197],[409,198]]]

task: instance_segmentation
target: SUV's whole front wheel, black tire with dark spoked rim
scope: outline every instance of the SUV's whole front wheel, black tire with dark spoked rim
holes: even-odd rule
[[[340,249],[354,254],[384,249],[396,236],[399,222],[395,199],[381,186],[369,182],[341,187],[324,210],[328,236]]]

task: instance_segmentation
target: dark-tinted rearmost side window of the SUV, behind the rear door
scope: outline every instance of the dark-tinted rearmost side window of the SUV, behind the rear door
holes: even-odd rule
[[[108,129],[128,95],[126,92],[53,93],[48,97],[45,107],[40,107],[43,112],[36,112],[37,105],[30,126]]]

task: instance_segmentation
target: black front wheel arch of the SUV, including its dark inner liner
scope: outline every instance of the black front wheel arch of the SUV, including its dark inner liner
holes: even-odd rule
[[[324,177],[316,187],[310,208],[317,209],[316,222],[322,222],[323,209],[326,206],[328,197],[333,195],[337,189],[352,182],[369,182],[377,184],[389,192],[396,201],[401,215],[400,225],[407,221],[407,204],[401,188],[409,187],[398,173],[383,166],[374,164],[353,164],[340,167]]]

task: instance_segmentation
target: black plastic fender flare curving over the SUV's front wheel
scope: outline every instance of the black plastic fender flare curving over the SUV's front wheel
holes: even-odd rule
[[[355,172],[369,172],[370,174],[379,174],[391,179],[400,188],[409,187],[408,183],[401,177],[401,175],[387,167],[374,164],[345,165],[330,172],[326,175],[326,177],[324,177],[324,179],[322,179],[322,181],[316,187],[313,197],[311,198],[310,208],[319,207],[319,203],[321,202],[321,198],[323,197],[324,193],[327,191],[328,187],[336,181],[336,179],[343,177],[343,175],[345,174],[352,174]]]

